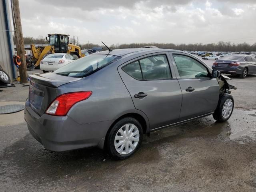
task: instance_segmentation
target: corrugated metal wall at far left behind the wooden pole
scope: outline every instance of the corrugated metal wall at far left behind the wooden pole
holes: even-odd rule
[[[13,63],[11,62],[12,58],[10,58],[10,49],[8,45],[8,35],[6,31],[1,31],[1,30],[6,30],[6,23],[5,23],[5,16],[4,16],[4,1],[6,2],[6,6],[10,6],[9,0],[0,0],[0,66],[2,69],[10,76],[10,78],[13,80],[14,77],[12,74],[12,67]],[[11,23],[11,17],[10,17],[10,10],[7,10],[7,15],[8,15],[8,21],[9,24]],[[10,25],[9,25],[10,26]],[[10,29],[12,30],[12,28]],[[10,32],[11,36],[11,46],[12,46],[12,54],[14,55],[14,44],[13,44],[13,39],[12,39],[12,32]]]

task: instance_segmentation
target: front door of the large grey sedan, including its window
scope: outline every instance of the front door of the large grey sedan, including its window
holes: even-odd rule
[[[188,54],[172,53],[178,82],[182,90],[180,120],[214,112],[218,104],[219,85],[210,78],[210,68]]]

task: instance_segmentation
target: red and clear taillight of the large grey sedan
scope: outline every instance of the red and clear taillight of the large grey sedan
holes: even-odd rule
[[[46,114],[54,116],[66,116],[70,108],[82,100],[91,96],[91,91],[65,93],[58,96],[46,110]]]

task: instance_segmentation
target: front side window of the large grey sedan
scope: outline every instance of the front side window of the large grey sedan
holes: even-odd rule
[[[207,68],[197,60],[184,55],[173,54],[180,78],[209,77]]]

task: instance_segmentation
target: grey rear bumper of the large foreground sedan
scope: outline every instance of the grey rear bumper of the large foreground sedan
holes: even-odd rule
[[[24,117],[32,136],[44,148],[55,152],[95,146],[103,148],[108,128],[114,122],[78,124],[69,116],[39,116],[27,103]]]

